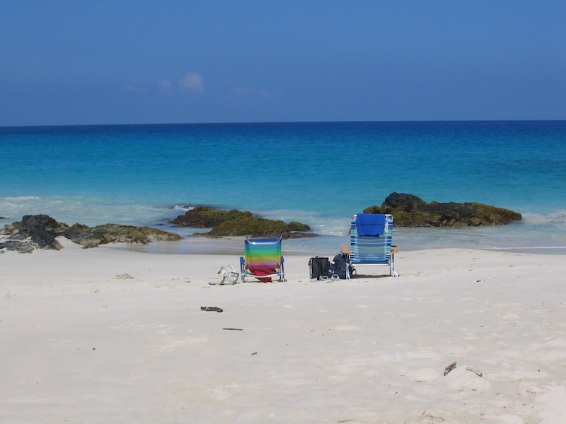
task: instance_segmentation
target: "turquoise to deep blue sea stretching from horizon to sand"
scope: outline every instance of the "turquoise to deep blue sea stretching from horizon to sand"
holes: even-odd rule
[[[347,244],[354,213],[399,192],[524,217],[497,227],[395,228],[401,249],[566,254],[566,121],[2,127],[0,153],[0,225],[47,213],[187,236],[195,230],[170,221],[205,204],[307,223],[320,237],[287,240],[284,249],[331,253]],[[240,247],[187,237],[136,248]]]

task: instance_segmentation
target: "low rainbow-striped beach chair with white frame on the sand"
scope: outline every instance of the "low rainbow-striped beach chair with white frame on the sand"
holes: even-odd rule
[[[246,277],[257,278],[263,283],[271,283],[274,277],[285,281],[281,240],[281,236],[261,239],[246,237],[243,257],[240,257],[242,283]]]

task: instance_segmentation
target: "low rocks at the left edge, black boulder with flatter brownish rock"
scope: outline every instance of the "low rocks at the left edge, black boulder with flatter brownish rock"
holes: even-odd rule
[[[148,227],[132,225],[104,224],[96,227],[58,223],[47,215],[26,215],[19,222],[4,225],[0,234],[8,235],[0,242],[0,249],[32,252],[33,249],[62,249],[55,237],[63,236],[83,245],[84,248],[96,247],[107,243],[149,243],[158,240],[181,240],[180,235],[173,232],[156,230]]]

